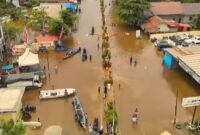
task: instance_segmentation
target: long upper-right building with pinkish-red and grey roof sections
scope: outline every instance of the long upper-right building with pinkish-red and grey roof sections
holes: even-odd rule
[[[195,16],[200,14],[200,3],[151,2],[150,11],[162,19],[192,23]]]

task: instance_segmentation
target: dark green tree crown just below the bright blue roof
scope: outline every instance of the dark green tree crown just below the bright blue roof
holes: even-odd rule
[[[64,24],[71,27],[73,26],[75,20],[77,19],[75,15],[71,14],[68,10],[62,10],[60,17]]]

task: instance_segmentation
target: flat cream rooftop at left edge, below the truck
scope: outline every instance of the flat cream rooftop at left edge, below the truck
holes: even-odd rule
[[[0,113],[16,112],[25,88],[0,89]]]

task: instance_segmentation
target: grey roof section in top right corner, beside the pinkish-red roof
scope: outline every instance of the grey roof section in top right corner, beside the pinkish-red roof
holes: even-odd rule
[[[196,15],[200,13],[200,3],[183,3],[182,7],[185,15]]]

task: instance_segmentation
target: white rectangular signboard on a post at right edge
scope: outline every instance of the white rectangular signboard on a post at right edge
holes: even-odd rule
[[[183,98],[182,106],[183,107],[200,106],[200,96],[199,97]]]

